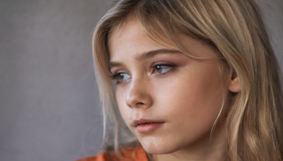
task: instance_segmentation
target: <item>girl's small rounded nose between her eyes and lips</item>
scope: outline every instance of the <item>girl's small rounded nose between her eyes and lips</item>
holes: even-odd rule
[[[149,108],[153,104],[151,85],[146,80],[132,79],[126,96],[127,105],[131,108]]]

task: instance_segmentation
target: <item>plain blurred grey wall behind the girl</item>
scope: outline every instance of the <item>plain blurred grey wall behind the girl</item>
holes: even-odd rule
[[[260,0],[283,68],[283,1]],[[101,150],[91,33],[110,0],[0,1],[0,160],[75,160]]]

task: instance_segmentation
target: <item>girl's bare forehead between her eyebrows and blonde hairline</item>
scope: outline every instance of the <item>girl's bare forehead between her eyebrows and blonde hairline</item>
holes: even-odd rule
[[[114,28],[108,37],[110,59],[125,55],[125,52],[127,56],[131,56],[130,54],[164,48],[178,50],[196,59],[218,57],[216,50],[201,40],[195,40],[180,33],[174,35],[179,40],[174,43],[165,34],[162,35],[161,33],[149,34],[139,20],[125,21],[125,23]],[[179,46],[177,47],[176,44],[179,44]],[[180,49],[180,46],[183,49]]]

